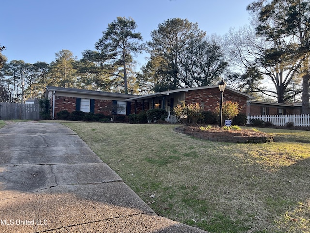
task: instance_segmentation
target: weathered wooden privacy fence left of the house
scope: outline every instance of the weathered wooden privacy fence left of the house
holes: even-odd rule
[[[0,120],[39,120],[38,104],[1,103]]]

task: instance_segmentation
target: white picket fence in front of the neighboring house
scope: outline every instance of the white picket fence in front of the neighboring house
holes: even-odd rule
[[[251,124],[251,119],[259,119],[263,120],[264,122],[271,122],[273,125],[277,126],[285,126],[285,124],[289,122],[294,123],[294,126],[310,126],[309,114],[247,116],[247,124]]]

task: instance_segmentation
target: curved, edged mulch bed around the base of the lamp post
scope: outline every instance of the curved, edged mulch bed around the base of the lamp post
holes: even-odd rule
[[[273,142],[273,136],[253,130],[223,130],[213,127],[209,130],[201,130],[198,126],[179,126],[174,129],[176,132],[184,133],[200,139],[215,142],[234,143],[266,143]]]

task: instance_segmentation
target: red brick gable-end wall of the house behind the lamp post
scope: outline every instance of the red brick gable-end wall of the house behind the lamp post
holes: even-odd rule
[[[246,114],[247,98],[245,96],[237,95],[230,91],[224,91],[223,102],[232,101],[239,103],[240,113]],[[204,111],[213,111],[220,102],[220,92],[216,88],[192,90],[185,93],[185,103],[198,103],[202,106],[204,102]]]

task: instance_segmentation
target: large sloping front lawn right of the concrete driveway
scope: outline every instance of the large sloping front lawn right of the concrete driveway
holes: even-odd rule
[[[211,233],[310,232],[310,133],[219,143],[174,125],[65,123],[155,212]]]

